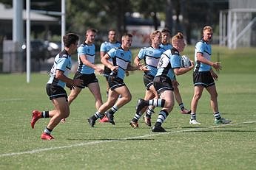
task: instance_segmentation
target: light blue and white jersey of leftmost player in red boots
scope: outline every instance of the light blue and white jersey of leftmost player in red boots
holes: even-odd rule
[[[70,72],[71,69],[71,56],[70,54],[67,53],[66,50],[63,50],[59,54],[56,55],[53,63],[53,67],[50,70],[50,79],[47,82],[47,84],[52,84],[52,85],[59,85],[62,88],[65,87],[66,82],[62,82],[59,79],[55,78],[55,74],[57,70],[63,71],[64,75],[67,77],[67,75]]]

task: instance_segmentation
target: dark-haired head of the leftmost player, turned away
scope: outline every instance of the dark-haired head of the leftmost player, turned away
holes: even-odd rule
[[[75,35],[74,33],[68,33],[67,35],[63,36],[64,46],[70,49],[70,54],[73,54],[78,48],[78,40],[78,35]]]

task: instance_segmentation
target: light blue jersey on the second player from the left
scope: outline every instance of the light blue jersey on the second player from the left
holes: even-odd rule
[[[88,45],[87,43],[83,43],[78,47],[78,69],[77,71],[81,74],[93,74],[94,69],[84,65],[80,59],[80,55],[84,54],[87,56],[87,60],[90,63],[94,64],[95,61],[95,45]]]

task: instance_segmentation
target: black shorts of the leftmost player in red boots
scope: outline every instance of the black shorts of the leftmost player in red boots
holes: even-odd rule
[[[50,100],[61,98],[61,97],[64,97],[67,100],[67,92],[65,91],[64,88],[62,88],[59,85],[47,84],[46,92]]]

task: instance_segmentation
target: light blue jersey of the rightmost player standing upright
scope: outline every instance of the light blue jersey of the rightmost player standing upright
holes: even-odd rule
[[[206,43],[205,40],[201,40],[195,45],[195,68],[194,71],[210,71],[212,68],[211,65],[204,64],[198,61],[197,53],[200,52],[203,54],[203,57],[206,60],[211,60],[212,55],[212,46],[209,43]]]

